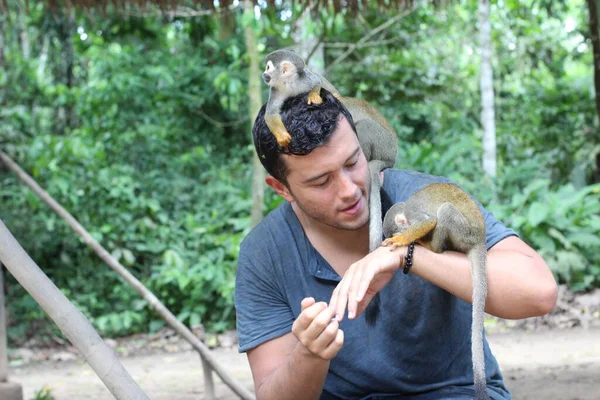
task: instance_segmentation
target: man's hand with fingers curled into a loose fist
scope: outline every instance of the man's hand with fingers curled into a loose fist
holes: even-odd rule
[[[312,297],[302,300],[301,305],[292,333],[309,354],[331,360],[344,344],[344,331],[333,319],[333,309],[324,302],[315,303]]]

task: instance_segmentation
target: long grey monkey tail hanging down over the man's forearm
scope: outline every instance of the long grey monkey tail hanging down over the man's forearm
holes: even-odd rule
[[[471,325],[471,353],[473,359],[473,380],[475,398],[489,400],[485,377],[485,355],[483,352],[483,319],[485,298],[487,296],[485,243],[476,245],[468,254],[471,261],[471,279],[473,281],[473,322]]]

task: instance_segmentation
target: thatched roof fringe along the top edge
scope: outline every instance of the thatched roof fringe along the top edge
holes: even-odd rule
[[[265,0],[270,7],[275,6],[275,0]],[[290,3],[308,3],[306,0],[288,0]],[[310,1],[310,0],[309,0]],[[367,6],[369,3],[377,3],[378,7],[386,10],[403,10],[415,6],[415,0],[312,0],[311,8],[318,9],[323,7],[332,7],[335,12],[348,10],[350,12],[358,12],[360,9]],[[28,0],[25,0],[27,3]],[[252,0],[253,3],[258,3],[258,0]],[[194,7],[197,11],[206,11],[207,13],[218,12],[220,10],[229,9],[233,0],[219,0],[219,5],[215,7],[214,0],[48,0],[47,5],[50,8],[64,9],[99,9],[106,11],[108,9],[127,10],[127,9],[148,9],[159,8],[164,12],[169,12],[178,9],[179,7]],[[243,3],[243,0],[240,0]],[[263,2],[264,3],[264,2]],[[431,0],[434,6],[444,3],[444,0]],[[0,10],[8,8],[7,0],[0,0]]]

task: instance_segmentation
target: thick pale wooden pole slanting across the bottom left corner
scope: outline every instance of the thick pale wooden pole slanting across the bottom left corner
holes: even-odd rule
[[[123,368],[88,319],[42,272],[0,220],[0,261],[48,313],[79,350],[108,390],[119,400],[142,400],[148,396]]]

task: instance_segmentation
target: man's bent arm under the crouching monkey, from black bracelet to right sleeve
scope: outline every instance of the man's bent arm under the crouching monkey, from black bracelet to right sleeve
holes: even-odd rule
[[[462,253],[436,254],[416,247],[411,272],[471,303],[471,265]],[[485,310],[501,318],[547,314],[556,302],[556,282],[534,252],[492,248],[487,257],[488,294]]]

